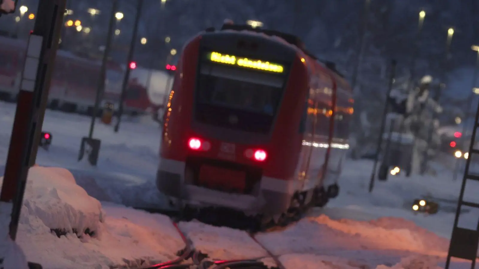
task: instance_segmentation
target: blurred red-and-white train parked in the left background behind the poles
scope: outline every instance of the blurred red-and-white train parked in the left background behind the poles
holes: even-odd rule
[[[0,95],[13,101],[20,87],[26,41],[0,36]],[[100,62],[59,50],[49,92],[49,104],[69,112],[92,111],[95,101]],[[109,62],[103,102],[118,107],[123,68]],[[125,99],[125,112],[143,113],[158,109],[148,98],[148,90],[137,81],[130,81]]]

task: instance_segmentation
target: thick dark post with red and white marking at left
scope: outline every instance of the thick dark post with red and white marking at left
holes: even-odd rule
[[[40,0],[21,77],[1,202],[12,203],[9,234],[15,240],[28,169],[36,158],[66,0]],[[33,162],[31,162],[33,160]]]

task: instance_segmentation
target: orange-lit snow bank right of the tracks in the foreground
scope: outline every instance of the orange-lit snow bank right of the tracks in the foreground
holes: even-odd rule
[[[288,268],[303,268],[304,264],[322,265],[311,268],[391,267],[403,258],[418,255],[424,263],[437,264],[431,257],[445,256],[448,247],[445,238],[398,218],[336,221],[321,215],[303,219],[284,231],[257,235],[257,238],[272,253],[281,256],[280,260]]]

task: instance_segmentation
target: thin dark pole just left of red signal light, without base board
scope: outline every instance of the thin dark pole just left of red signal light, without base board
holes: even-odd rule
[[[143,8],[143,0],[138,0],[137,2],[137,15],[135,17],[135,24],[133,25],[133,36],[131,38],[130,49],[128,51],[128,57],[126,58],[126,71],[125,76],[123,77],[123,83],[121,87],[120,103],[118,108],[118,119],[116,121],[114,131],[118,133],[120,128],[121,116],[123,114],[123,102],[125,100],[126,88],[128,87],[128,81],[130,80],[130,62],[133,58],[133,53],[135,52],[135,44],[137,44],[137,35],[138,35],[138,23],[140,22],[141,10]]]

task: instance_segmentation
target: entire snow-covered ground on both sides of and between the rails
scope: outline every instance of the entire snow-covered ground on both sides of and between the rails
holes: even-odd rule
[[[13,113],[14,105],[0,103],[0,166],[6,159]],[[49,151],[39,150],[37,163],[67,168],[71,174],[59,168],[32,168],[17,238],[28,260],[40,262],[46,269],[103,269],[141,259],[174,258],[183,244],[168,218],[118,205],[164,203],[153,181],[160,142],[158,124],[146,118],[125,121],[115,134],[112,126],[97,123],[94,137],[102,139],[102,148],[98,166],[92,168],[77,161],[80,139],[88,134],[89,123],[80,115],[46,113],[44,130],[53,134],[53,144]],[[448,241],[440,236],[451,233],[455,203],[441,203],[450,212],[425,216],[414,215],[411,202],[428,194],[454,200],[460,180],[453,182],[445,170],[438,170],[435,177],[397,176],[376,182],[376,189],[369,194],[371,162],[348,160],[345,164],[342,192],[328,208],[314,210],[283,231],[260,234],[259,242],[279,255],[288,269],[442,267]],[[469,189],[471,193],[479,190]],[[386,218],[377,220],[379,217]],[[466,213],[462,221],[474,224],[473,213]],[[50,232],[56,226],[91,226],[98,235],[58,238]],[[194,247],[211,258],[267,256],[245,232],[196,222],[181,223],[180,227]],[[0,231],[1,249],[6,231]],[[265,261],[273,265],[271,259]],[[467,267],[454,264],[454,268]]]

